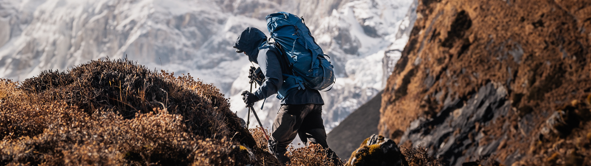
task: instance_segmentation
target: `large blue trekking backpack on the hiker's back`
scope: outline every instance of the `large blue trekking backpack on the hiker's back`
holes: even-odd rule
[[[328,56],[322,52],[322,48],[314,41],[303,18],[287,12],[269,14],[267,29],[271,33],[268,44],[280,48],[283,56],[281,58],[293,71],[291,74],[284,73],[283,76],[296,79],[297,84],[286,91],[296,87],[324,90],[335,83],[333,66],[326,59]]]

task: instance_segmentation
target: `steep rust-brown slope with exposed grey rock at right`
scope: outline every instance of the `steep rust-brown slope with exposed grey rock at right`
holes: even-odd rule
[[[428,1],[380,134],[450,165],[591,165],[591,1]]]

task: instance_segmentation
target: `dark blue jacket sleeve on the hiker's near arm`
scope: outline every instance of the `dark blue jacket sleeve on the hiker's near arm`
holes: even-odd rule
[[[283,83],[281,66],[279,64],[279,60],[277,59],[277,51],[277,48],[272,46],[259,50],[257,60],[259,67],[261,67],[261,71],[263,74],[265,74],[265,80],[261,84],[261,87],[259,87],[256,92],[254,92],[255,96],[258,97],[259,100],[265,99],[277,93],[277,90],[281,88]]]

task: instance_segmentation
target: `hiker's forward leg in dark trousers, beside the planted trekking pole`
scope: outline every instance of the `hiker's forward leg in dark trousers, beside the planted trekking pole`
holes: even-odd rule
[[[289,161],[285,157],[287,146],[296,138],[298,128],[313,105],[281,105],[278,115],[275,116],[273,132],[268,141],[269,151],[283,163]]]

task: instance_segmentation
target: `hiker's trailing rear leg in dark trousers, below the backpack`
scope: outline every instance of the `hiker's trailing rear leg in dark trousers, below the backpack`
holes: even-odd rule
[[[315,105],[314,108],[304,117],[301,122],[301,127],[298,131],[298,135],[304,145],[308,145],[309,142],[312,144],[320,144],[323,148],[327,149],[327,157],[335,164],[340,163],[340,158],[336,155],[326,142],[326,131],[324,129],[324,122],[322,120],[322,105]]]

